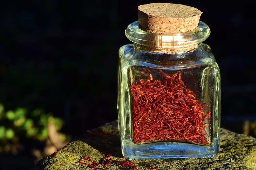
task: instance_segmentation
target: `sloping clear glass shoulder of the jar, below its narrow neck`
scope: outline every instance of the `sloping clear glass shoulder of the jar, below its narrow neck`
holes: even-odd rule
[[[158,69],[189,69],[194,67],[207,66],[215,68],[219,72],[218,64],[207,44],[202,44],[193,52],[163,54],[135,51],[133,44],[123,45],[119,49],[119,61],[125,66],[145,66]]]

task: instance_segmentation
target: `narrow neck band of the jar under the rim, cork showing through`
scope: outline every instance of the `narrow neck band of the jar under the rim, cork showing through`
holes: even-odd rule
[[[174,53],[189,53],[193,52],[197,48],[200,48],[202,46],[202,43],[190,45],[190,46],[184,46],[181,48],[159,48],[159,47],[150,47],[145,45],[140,45],[137,43],[133,43],[133,50],[134,52],[140,52],[140,51],[148,51],[153,53],[166,53],[166,54],[174,54]]]

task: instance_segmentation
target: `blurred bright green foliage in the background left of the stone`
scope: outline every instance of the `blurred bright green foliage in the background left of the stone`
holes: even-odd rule
[[[26,108],[17,108],[5,112],[0,103],[0,147],[7,143],[18,143],[20,139],[35,139],[45,141],[48,137],[48,125],[53,122],[56,130],[61,130],[64,122],[42,109],[28,111]],[[60,134],[66,139],[65,134]]]

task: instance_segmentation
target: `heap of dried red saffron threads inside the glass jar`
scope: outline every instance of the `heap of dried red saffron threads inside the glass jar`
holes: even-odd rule
[[[204,121],[211,113],[205,114],[205,103],[186,87],[181,73],[160,72],[162,80],[149,75],[131,85],[134,142],[178,140],[209,145],[205,130],[209,124]]]

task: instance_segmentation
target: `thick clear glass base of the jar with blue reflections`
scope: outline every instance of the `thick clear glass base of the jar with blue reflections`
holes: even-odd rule
[[[122,151],[127,159],[213,158],[219,152],[218,140],[210,146],[181,142],[155,142],[140,145],[128,141],[125,143],[128,145],[122,148]]]

